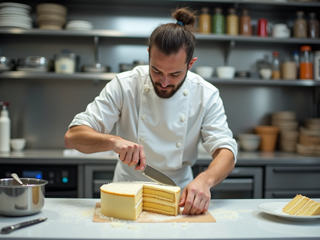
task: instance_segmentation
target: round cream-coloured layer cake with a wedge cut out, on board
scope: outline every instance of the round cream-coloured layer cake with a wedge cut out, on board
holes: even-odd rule
[[[177,216],[180,187],[153,182],[112,182],[102,185],[101,213],[107,217],[137,220],[142,211]]]

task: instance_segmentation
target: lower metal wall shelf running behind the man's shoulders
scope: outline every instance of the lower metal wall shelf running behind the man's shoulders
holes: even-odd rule
[[[65,79],[65,80],[104,80],[110,81],[116,73],[84,73],[60,74],[55,72],[27,72],[27,71],[5,71],[0,73],[0,79]],[[206,79],[212,84],[230,85],[262,85],[262,86],[320,86],[320,81],[314,80],[263,80],[260,78],[234,78],[220,79],[212,77]]]

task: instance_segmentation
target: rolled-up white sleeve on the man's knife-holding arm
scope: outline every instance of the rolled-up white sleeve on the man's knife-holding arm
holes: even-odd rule
[[[97,132],[110,133],[119,120],[123,105],[123,93],[117,77],[102,89],[99,96],[89,103],[86,110],[77,114],[69,128],[87,125]]]

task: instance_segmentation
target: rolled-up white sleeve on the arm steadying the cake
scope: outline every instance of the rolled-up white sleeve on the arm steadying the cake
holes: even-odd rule
[[[228,148],[232,151],[236,162],[237,143],[228,127],[227,116],[218,90],[206,101],[201,135],[203,147],[211,156],[219,148]]]

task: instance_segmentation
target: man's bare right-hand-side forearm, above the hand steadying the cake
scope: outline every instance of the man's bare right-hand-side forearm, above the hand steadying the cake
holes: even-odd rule
[[[235,166],[233,153],[227,148],[218,149],[212,158],[208,169],[196,177],[203,180],[209,188],[213,188],[224,180]]]

